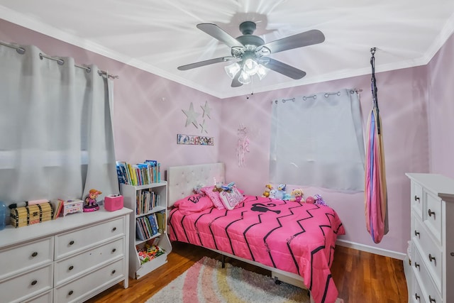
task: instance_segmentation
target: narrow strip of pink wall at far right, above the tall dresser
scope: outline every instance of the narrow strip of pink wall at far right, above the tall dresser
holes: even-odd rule
[[[454,178],[454,35],[428,65],[431,172]]]

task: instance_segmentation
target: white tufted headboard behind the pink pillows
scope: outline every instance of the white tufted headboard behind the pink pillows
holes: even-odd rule
[[[197,184],[214,185],[214,182],[225,182],[226,168],[224,163],[171,166],[167,169],[167,189],[169,206],[177,200],[193,194]]]

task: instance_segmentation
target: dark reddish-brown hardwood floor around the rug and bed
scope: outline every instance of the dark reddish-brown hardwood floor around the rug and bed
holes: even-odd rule
[[[173,243],[172,253],[168,256],[165,265],[140,280],[130,278],[129,287],[126,290],[123,289],[122,283],[119,283],[87,302],[145,302],[204,255],[221,260],[220,255],[206,248]],[[226,262],[263,275],[270,275],[268,270],[238,260],[226,258]],[[402,260],[336,246],[331,272],[339,297],[344,299],[345,303],[408,302]]]

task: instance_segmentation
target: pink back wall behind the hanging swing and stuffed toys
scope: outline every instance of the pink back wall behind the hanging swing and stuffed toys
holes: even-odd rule
[[[376,55],[380,62],[380,53]],[[384,250],[406,252],[410,234],[410,188],[405,172],[428,171],[427,80],[426,67],[377,74],[378,101],[384,133],[389,233],[375,244],[365,228],[363,194],[345,194],[306,188],[306,194],[319,193],[338,212],[345,225],[345,241]],[[226,162],[228,182],[236,182],[248,194],[262,194],[268,180],[271,101],[316,92],[336,92],[342,88],[362,89],[360,99],[364,125],[372,106],[370,75],[353,77],[292,89],[253,94],[250,99],[223,99],[220,160]],[[289,119],[294,119],[289,117]],[[250,153],[245,167],[236,158],[237,129],[243,123],[250,131]],[[323,123],[321,120],[320,123]],[[289,142],[289,144],[292,144]],[[304,185],[304,184],[300,184]],[[289,186],[289,189],[292,188]]]

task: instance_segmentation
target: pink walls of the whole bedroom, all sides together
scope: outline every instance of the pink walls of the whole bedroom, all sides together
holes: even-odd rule
[[[3,20],[0,20],[0,40],[36,45],[48,55],[74,57],[78,64],[95,63],[101,70],[120,77],[114,80],[114,131],[118,160],[138,162],[155,158],[162,162],[164,170],[171,165],[223,161],[226,162],[227,180],[235,181],[248,194],[261,194],[268,182],[272,100],[358,88],[362,89],[364,123],[371,108],[369,75],[253,94],[250,99],[235,97],[219,100]],[[450,131],[454,123],[450,117],[454,106],[450,101],[454,93],[450,82],[454,72],[449,67],[453,45],[453,38],[450,38],[426,67],[377,74],[387,163],[390,228],[382,243],[375,245],[365,229],[362,194],[306,189],[307,194],[322,194],[338,211],[347,231],[343,240],[404,253],[410,228],[409,180],[404,173],[428,172],[430,164],[434,172],[454,177],[454,162],[450,157],[454,147],[454,135]],[[376,60],[380,62],[380,52]],[[446,84],[448,87],[444,87]],[[211,119],[206,120],[209,130],[206,136],[214,137],[214,146],[176,144],[177,133],[199,134],[200,130],[193,126],[185,127],[186,116],[182,109],[189,109],[191,101],[199,112],[199,106],[209,102],[212,110]],[[238,167],[236,158],[240,123],[248,128],[250,137],[250,153],[245,155],[245,167]]]

